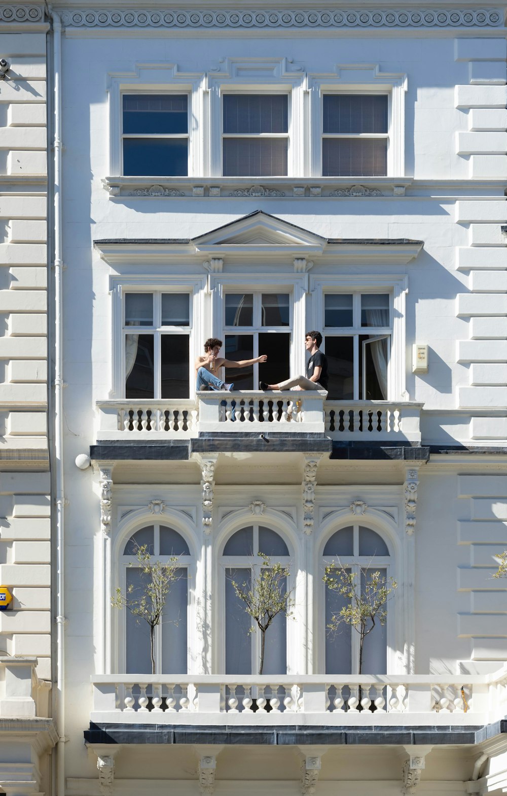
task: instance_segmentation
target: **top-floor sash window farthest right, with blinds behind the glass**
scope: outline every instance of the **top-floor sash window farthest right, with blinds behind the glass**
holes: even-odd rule
[[[385,94],[324,94],[323,177],[387,174],[388,101]]]

